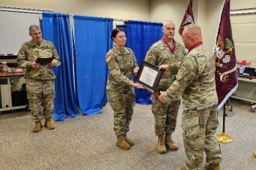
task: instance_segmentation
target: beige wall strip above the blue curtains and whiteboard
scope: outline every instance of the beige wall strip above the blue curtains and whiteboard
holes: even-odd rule
[[[40,8],[55,13],[149,21],[149,0],[1,0],[0,5]]]

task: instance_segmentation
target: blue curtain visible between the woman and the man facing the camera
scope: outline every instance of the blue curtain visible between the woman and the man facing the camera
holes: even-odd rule
[[[147,50],[154,42],[162,38],[162,23],[156,22],[127,22],[127,47],[132,48],[138,66],[146,57]],[[146,89],[135,89],[135,102],[138,104],[151,104],[151,93]]]

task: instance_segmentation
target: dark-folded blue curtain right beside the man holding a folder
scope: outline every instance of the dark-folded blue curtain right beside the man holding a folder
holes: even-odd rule
[[[54,67],[54,118],[62,121],[79,114],[74,89],[73,44],[70,16],[64,13],[43,13],[43,39],[51,41],[58,51],[61,66]]]

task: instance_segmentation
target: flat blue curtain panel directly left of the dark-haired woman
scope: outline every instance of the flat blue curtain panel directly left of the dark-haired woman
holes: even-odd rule
[[[113,19],[74,16],[74,24],[79,106],[84,115],[102,113],[107,102],[106,53],[112,48]]]

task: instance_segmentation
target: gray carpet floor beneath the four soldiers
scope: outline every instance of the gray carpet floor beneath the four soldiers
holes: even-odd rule
[[[227,107],[225,133],[232,137],[232,142],[220,144],[222,169],[254,170],[256,158],[252,154],[256,151],[256,113],[250,111],[246,102],[234,99],[231,102],[234,107],[232,112]],[[173,134],[179,149],[166,154],[156,151],[157,138],[150,105],[135,105],[128,133],[129,138],[135,140],[135,145],[129,151],[115,145],[113,113],[109,104],[103,107],[103,113],[55,122],[55,130],[43,127],[40,133],[31,132],[34,123],[27,111],[2,113],[0,169],[174,169],[186,161],[180,127],[181,112],[182,109]],[[219,110],[217,133],[223,131],[222,120],[223,110]]]

